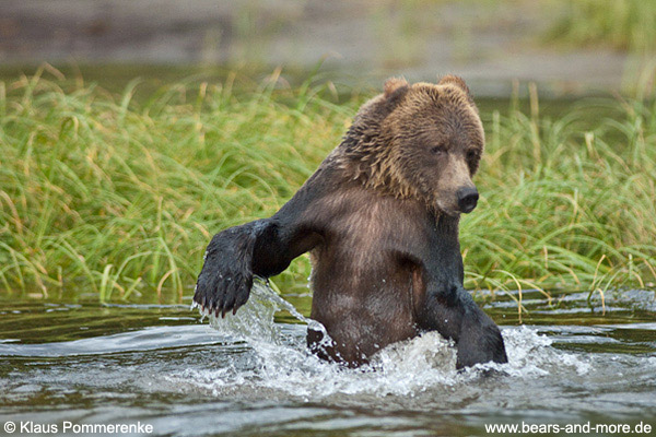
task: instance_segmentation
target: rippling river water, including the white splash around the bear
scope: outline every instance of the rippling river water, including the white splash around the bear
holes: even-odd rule
[[[435,333],[364,368],[321,362],[305,350],[307,320],[262,286],[238,317],[212,327],[188,305],[5,300],[0,426],[140,422],[172,436],[488,435],[485,424],[523,421],[656,426],[653,291],[608,295],[605,314],[582,293],[549,303],[525,292],[523,303],[520,326],[509,298],[485,307],[509,363],[457,373],[453,346]],[[489,367],[499,371],[484,376]]]

